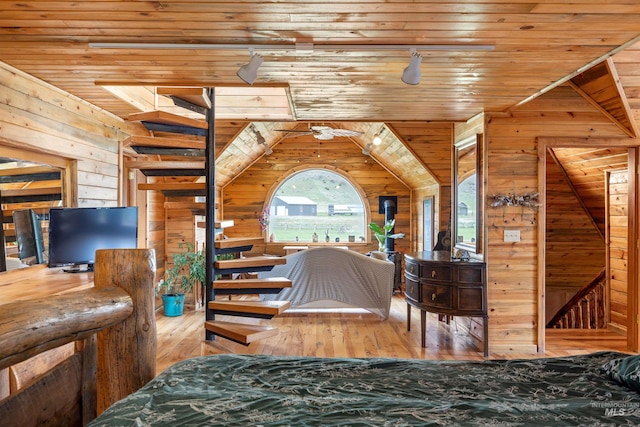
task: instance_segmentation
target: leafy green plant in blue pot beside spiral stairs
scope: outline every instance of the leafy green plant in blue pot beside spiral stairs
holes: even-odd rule
[[[181,243],[178,247],[183,251],[173,255],[173,267],[165,272],[157,289],[162,294],[165,316],[182,315],[185,294],[206,280],[204,249],[195,250],[193,243]]]

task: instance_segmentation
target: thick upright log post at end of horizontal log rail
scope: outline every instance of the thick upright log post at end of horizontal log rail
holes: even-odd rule
[[[156,374],[156,259],[153,249],[96,251],[96,288],[118,286],[133,300],[133,314],[98,332],[98,414]]]

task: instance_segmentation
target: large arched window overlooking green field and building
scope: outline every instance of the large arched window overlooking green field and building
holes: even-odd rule
[[[362,242],[367,213],[358,190],[337,172],[304,169],[285,179],[268,202],[268,236],[278,242]]]

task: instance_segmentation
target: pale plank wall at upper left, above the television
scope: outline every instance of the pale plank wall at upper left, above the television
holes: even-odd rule
[[[120,203],[119,141],[136,126],[2,63],[0,91],[1,144],[73,162],[71,203]]]

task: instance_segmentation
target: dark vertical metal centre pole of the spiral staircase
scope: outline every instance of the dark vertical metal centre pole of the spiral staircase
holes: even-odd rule
[[[209,310],[209,301],[215,300],[215,291],[213,289],[213,281],[215,278],[214,262],[216,258],[215,249],[215,206],[216,206],[216,156],[215,156],[215,88],[208,88],[209,99],[211,100],[211,108],[207,111],[207,143],[205,147],[205,178],[207,181],[206,196],[206,227],[205,227],[205,259],[207,265],[206,286],[205,286],[205,317],[207,321],[215,320],[215,313]],[[215,334],[205,329],[205,340],[215,340]]]

